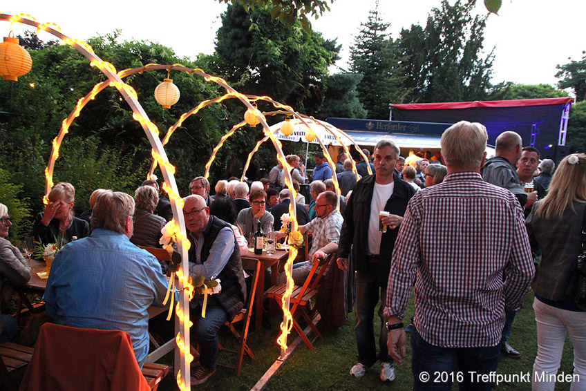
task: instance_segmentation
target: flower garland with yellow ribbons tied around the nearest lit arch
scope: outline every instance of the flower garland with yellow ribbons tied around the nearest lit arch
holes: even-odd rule
[[[171,318],[171,311],[173,308],[174,295],[170,294],[171,289],[175,285],[175,274],[179,270],[181,263],[181,254],[177,251],[177,233],[178,227],[175,225],[173,220],[167,222],[167,224],[161,229],[161,238],[159,243],[164,249],[167,250],[171,256],[171,263],[169,264],[169,270],[171,271],[171,279],[169,280],[169,287],[167,287],[167,295],[164,298],[163,304],[167,303],[169,296],[171,296],[171,305],[169,306],[169,316],[167,320]],[[203,295],[202,305],[202,318],[205,318],[205,309],[207,307],[207,295],[219,294],[222,291],[222,285],[218,278],[206,278],[199,274],[193,274],[187,278],[187,284],[183,289],[189,289],[189,300],[193,298],[194,294]]]

